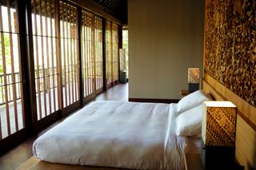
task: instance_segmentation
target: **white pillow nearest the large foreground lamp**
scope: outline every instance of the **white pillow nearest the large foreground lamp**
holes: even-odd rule
[[[202,105],[178,115],[176,125],[176,134],[178,136],[201,136]]]

